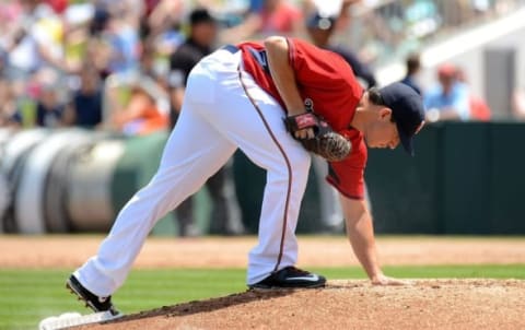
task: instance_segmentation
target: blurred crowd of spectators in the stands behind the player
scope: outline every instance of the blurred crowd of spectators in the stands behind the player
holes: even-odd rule
[[[212,50],[271,34],[307,38],[342,55],[363,84],[371,86],[382,55],[392,57],[393,49],[409,54],[413,43],[431,37],[440,26],[490,16],[516,2],[520,0],[1,2],[0,127],[81,126],[125,134],[170,128],[182,99],[180,91],[174,96],[174,86],[180,76],[184,83],[184,74],[178,74],[180,63],[176,63],[180,59],[174,57],[188,39],[197,48]],[[203,13],[191,21],[196,9]],[[440,73],[440,82],[450,71]],[[462,83],[467,85],[458,79],[458,85]],[[429,97],[435,93],[429,91]],[[516,96],[516,104],[522,104],[522,98]],[[467,119],[465,108],[458,116]]]

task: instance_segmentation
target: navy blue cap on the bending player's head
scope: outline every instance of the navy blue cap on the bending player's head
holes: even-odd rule
[[[413,156],[413,135],[424,125],[424,108],[421,95],[412,87],[396,82],[380,90],[385,106],[392,109],[399,139],[405,150]]]

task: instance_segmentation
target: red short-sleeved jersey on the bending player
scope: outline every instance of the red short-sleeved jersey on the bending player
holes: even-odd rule
[[[363,199],[366,145],[363,134],[350,127],[350,122],[364,91],[350,66],[339,55],[298,38],[289,38],[288,43],[290,64],[305,108],[323,117],[352,143],[352,151],[346,160],[329,163],[327,180],[343,196]],[[244,70],[285,110],[271,79],[262,43],[249,42],[237,46],[243,50]]]

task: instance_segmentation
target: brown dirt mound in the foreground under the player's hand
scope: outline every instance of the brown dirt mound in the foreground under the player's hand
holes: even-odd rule
[[[525,329],[525,281],[331,281],[325,288],[248,291],[81,329]]]

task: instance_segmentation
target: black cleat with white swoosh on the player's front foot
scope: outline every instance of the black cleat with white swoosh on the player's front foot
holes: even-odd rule
[[[325,276],[289,266],[248,286],[249,288],[313,288],[323,287],[325,284]]]

